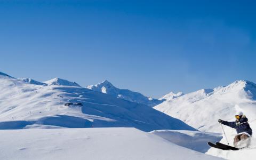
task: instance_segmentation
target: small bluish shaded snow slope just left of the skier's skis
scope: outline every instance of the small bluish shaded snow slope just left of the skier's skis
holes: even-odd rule
[[[158,130],[150,133],[158,135],[176,145],[196,150],[201,153],[205,153],[210,149],[207,142],[218,142],[222,139],[222,136],[219,133],[199,131]]]

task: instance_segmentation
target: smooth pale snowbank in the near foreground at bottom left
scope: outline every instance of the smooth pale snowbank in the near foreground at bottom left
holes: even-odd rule
[[[0,130],[0,159],[221,159],[134,128]]]

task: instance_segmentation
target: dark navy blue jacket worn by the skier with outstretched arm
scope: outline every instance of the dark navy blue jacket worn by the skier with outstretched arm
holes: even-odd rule
[[[249,133],[250,135],[252,135],[252,129],[251,129],[249,123],[244,123],[244,122],[248,122],[248,119],[245,116],[242,116],[242,118],[239,119],[239,122],[243,123],[243,124],[237,126],[236,125],[237,122],[238,121],[236,121],[236,122],[222,121],[221,124],[224,124],[224,125],[227,125],[227,126],[230,126],[234,129],[236,129],[237,133],[246,132],[246,133]]]

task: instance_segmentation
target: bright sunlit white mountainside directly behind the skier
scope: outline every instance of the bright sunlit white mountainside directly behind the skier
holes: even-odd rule
[[[165,101],[154,108],[195,127],[200,131],[219,132],[221,118],[234,121],[242,110],[249,120],[256,118],[256,85],[250,81],[235,81],[224,87],[203,89]]]

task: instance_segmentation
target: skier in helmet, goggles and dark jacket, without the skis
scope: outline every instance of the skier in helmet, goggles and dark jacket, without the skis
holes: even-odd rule
[[[242,111],[239,111],[235,115],[235,117],[236,117],[235,122],[222,121],[221,119],[219,119],[218,122],[236,129],[237,135],[234,138],[234,147],[237,147],[237,143],[241,140],[242,141],[246,140],[247,142],[246,146],[248,146],[250,145],[250,140],[252,136],[252,129],[248,123],[248,118],[246,118],[246,116],[243,115]]]

